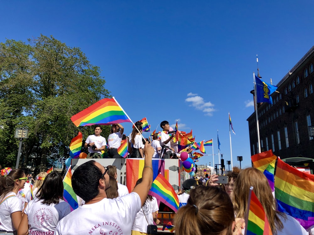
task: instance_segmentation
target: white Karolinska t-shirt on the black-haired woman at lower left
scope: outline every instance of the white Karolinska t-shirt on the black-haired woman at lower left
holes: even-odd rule
[[[50,205],[42,204],[42,201],[34,199],[26,206],[24,213],[28,218],[28,234],[51,234],[59,220],[71,212],[70,205],[63,200]]]

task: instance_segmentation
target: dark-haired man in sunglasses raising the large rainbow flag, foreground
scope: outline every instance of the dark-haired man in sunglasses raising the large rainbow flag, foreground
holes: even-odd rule
[[[142,183],[130,194],[108,199],[105,189],[110,187],[108,168],[94,160],[79,165],[72,175],[74,192],[85,204],[62,218],[55,235],[130,235],[136,213],[146,201],[153,182],[152,156],[154,149],[145,143]]]

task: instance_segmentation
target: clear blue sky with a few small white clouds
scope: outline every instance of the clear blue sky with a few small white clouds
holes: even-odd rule
[[[53,35],[80,47],[133,122],[163,120],[214,154],[251,165],[248,123],[253,72],[276,85],[313,46],[314,2],[0,1],[0,41]],[[125,132],[132,124],[125,123]],[[160,128],[157,129],[157,131]],[[146,134],[145,137],[147,137]],[[199,164],[213,165],[212,147]],[[214,155],[215,163],[218,156]],[[228,167],[228,166],[226,166]]]

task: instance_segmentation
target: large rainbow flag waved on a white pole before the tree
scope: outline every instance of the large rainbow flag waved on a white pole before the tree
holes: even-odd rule
[[[131,122],[114,98],[105,98],[71,118],[75,126],[110,125]]]

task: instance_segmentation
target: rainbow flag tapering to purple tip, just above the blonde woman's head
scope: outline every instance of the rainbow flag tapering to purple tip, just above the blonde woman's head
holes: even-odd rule
[[[251,157],[254,168],[262,171],[268,179],[268,183],[272,192],[275,190],[274,171],[276,159],[277,156],[273,154],[271,149],[260,154],[255,154]]]

